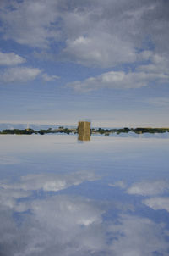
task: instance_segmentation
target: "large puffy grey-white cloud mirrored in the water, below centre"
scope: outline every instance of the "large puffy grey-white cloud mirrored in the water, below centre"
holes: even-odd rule
[[[48,223],[48,228],[57,225],[57,228],[61,230],[64,230],[64,225],[71,228],[74,225],[100,224],[102,222],[101,214],[105,212],[92,200],[68,196],[56,196],[43,201],[36,200],[31,205],[31,211],[38,216],[41,224]],[[48,220],[52,220],[52,222],[48,222]]]

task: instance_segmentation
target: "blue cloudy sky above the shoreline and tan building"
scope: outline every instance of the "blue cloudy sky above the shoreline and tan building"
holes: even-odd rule
[[[167,0],[1,0],[0,123],[168,127]]]

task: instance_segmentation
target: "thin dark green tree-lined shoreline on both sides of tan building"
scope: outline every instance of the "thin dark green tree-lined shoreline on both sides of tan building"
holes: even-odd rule
[[[169,132],[169,128],[128,128],[124,127],[121,129],[103,129],[103,128],[92,128],[90,130],[90,134],[101,134],[105,136],[109,136],[110,134],[120,134],[120,133],[128,133],[128,132],[134,132],[136,134],[144,134],[144,133],[165,133]],[[78,128],[67,128],[60,126],[57,129],[54,128],[48,128],[48,129],[41,129],[41,130],[34,130],[34,129],[4,129],[0,131],[0,135],[2,134],[11,134],[11,135],[31,135],[31,134],[56,134],[56,133],[65,133],[65,134],[78,134]]]

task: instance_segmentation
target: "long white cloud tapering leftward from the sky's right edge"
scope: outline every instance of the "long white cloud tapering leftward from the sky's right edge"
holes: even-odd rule
[[[101,57],[102,58],[102,57]],[[139,88],[151,83],[164,84],[169,81],[169,61],[166,57],[154,54],[152,51],[142,51],[137,56],[148,64],[138,65],[133,72],[109,71],[90,77],[85,81],[74,81],[68,86],[79,92],[90,92],[100,88]],[[119,59],[119,58],[118,58]]]

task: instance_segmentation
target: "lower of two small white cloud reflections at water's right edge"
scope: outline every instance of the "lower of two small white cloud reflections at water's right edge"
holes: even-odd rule
[[[148,198],[142,201],[145,205],[149,206],[152,209],[166,209],[169,212],[169,198],[155,197]]]

